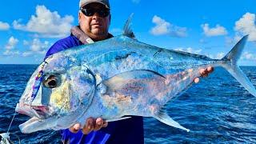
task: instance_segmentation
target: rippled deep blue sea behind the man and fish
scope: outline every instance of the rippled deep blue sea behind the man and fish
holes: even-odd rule
[[[36,65],[0,65],[0,133],[6,132],[19,97]],[[256,66],[243,66],[256,86]],[[187,133],[144,118],[146,143],[256,143],[256,98],[249,94],[226,70],[215,68],[185,94],[170,101],[166,110]],[[22,134],[18,125],[28,119],[17,114],[10,127],[14,143],[61,143],[58,131],[44,130]]]

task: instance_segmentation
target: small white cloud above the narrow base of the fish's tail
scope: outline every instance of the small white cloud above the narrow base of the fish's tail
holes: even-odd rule
[[[220,25],[216,25],[215,27],[210,28],[209,24],[205,23],[205,24],[202,24],[201,27],[202,27],[204,34],[207,37],[227,34],[226,28],[223,26],[220,26]]]

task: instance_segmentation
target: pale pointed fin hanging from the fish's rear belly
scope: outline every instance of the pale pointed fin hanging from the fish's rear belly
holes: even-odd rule
[[[190,132],[189,129],[181,126],[178,122],[175,122],[173,118],[170,118],[165,112],[159,111],[158,114],[154,115],[154,118],[158,119],[158,121],[165,123],[166,125],[176,127],[178,129],[186,130]]]

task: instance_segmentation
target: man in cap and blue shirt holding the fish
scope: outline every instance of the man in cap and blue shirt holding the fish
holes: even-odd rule
[[[79,26],[71,29],[69,37],[54,43],[46,58],[61,50],[113,37],[108,32],[111,18],[108,0],[80,0],[79,8]],[[209,67],[200,72],[206,76],[212,70]],[[199,79],[195,78],[194,82],[199,82]],[[143,134],[142,117],[109,123],[102,118],[88,118],[83,127],[75,124],[68,130],[62,130],[62,140],[64,143],[143,143]]]

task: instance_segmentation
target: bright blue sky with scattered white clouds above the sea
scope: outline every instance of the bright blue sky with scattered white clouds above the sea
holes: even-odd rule
[[[78,0],[5,1],[0,5],[0,64],[37,64],[58,39],[78,24]],[[110,0],[110,33],[134,13],[141,42],[222,58],[250,34],[240,65],[256,66],[254,0]]]

